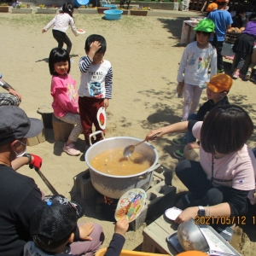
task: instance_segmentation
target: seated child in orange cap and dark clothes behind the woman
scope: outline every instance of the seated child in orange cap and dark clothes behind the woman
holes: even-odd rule
[[[207,116],[207,113],[212,110],[212,108],[230,104],[227,94],[229,93],[233,84],[233,79],[231,79],[229,75],[224,73],[216,74],[206,84],[208,101],[201,105],[196,114],[190,114],[189,120],[195,119],[197,121],[202,121]],[[199,144],[195,143],[195,137],[191,131],[187,131],[184,137],[172,139],[172,143],[176,145],[183,146],[182,142],[186,142],[187,146],[185,148],[187,150],[185,150],[185,148],[177,149],[173,154],[178,159],[183,159],[184,150],[188,155],[189,150],[199,148]],[[185,158],[187,159],[186,156]]]

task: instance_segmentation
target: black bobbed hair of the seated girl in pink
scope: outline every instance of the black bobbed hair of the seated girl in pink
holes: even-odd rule
[[[49,53],[49,73],[51,75],[57,74],[55,73],[55,63],[60,61],[68,61],[68,70],[67,73],[70,72],[70,57],[67,53],[66,49],[62,48],[54,48]]]

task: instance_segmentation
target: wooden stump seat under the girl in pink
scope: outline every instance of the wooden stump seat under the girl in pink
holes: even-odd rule
[[[73,130],[74,125],[72,124],[67,124],[60,119],[57,119],[55,115],[52,115],[52,126],[53,126],[53,131],[54,131],[54,137],[55,137],[55,142],[56,141],[61,141],[66,143],[67,139],[70,135],[70,132]]]

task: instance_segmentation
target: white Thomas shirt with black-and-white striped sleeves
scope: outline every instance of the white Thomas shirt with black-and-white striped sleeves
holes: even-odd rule
[[[88,56],[79,61],[81,72],[79,96],[95,98],[112,98],[113,72],[109,61],[92,64]]]

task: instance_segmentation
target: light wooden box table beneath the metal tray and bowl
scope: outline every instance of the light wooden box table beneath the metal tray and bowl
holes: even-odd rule
[[[169,253],[177,255],[177,251],[166,241],[166,237],[177,230],[174,221],[162,215],[143,230],[143,252]]]

